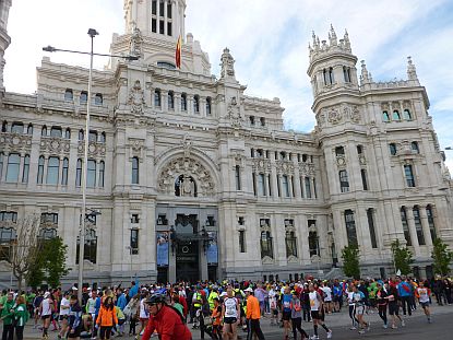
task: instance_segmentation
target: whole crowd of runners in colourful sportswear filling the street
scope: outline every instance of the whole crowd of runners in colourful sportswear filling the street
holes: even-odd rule
[[[140,284],[128,288],[78,288],[62,291],[3,291],[0,295],[2,340],[23,339],[24,326],[33,319],[43,339],[110,339],[131,336],[148,340],[190,340],[200,331],[216,340],[253,337],[262,340],[262,323],[282,327],[288,340],[333,336],[325,315],[348,310],[350,330],[370,331],[368,313],[378,313],[382,325],[405,327],[402,315],[410,316],[418,306],[431,323],[430,304],[452,304],[453,281],[437,278],[416,281],[397,277],[389,280],[315,280],[298,282],[223,281],[189,284]],[[302,323],[305,321],[305,323]],[[307,323],[311,323],[307,324]],[[374,327],[374,326],[373,326]],[[191,328],[191,330],[190,330]],[[309,336],[311,333],[311,336]]]

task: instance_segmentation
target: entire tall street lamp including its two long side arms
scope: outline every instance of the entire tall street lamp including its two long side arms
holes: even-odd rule
[[[85,230],[86,230],[86,173],[87,173],[87,165],[88,165],[88,138],[90,138],[90,109],[92,104],[92,81],[93,81],[93,57],[100,56],[100,57],[117,57],[123,58],[126,60],[138,60],[138,56],[117,56],[117,55],[106,55],[106,54],[95,54],[93,51],[93,43],[94,37],[99,35],[99,33],[94,30],[90,28],[87,34],[91,38],[91,50],[87,51],[80,51],[80,50],[71,50],[71,49],[60,49],[52,46],[43,47],[44,51],[48,52],[70,52],[70,54],[79,54],[79,55],[90,55],[90,72],[88,72],[88,99],[86,102],[86,121],[85,121],[85,134],[84,134],[84,155],[83,155],[83,169],[82,169],[82,227],[81,227],[81,235],[80,235],[80,243],[79,243],[79,290],[78,290],[78,297],[79,301],[82,301],[82,285],[83,285],[83,261],[85,257]]]

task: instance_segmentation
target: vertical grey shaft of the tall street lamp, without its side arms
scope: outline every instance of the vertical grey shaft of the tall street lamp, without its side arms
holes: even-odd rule
[[[82,286],[83,286],[83,261],[85,257],[85,233],[86,233],[86,175],[88,167],[88,143],[90,143],[90,109],[92,106],[92,79],[93,79],[93,43],[94,37],[98,33],[96,30],[90,28],[88,35],[92,40],[92,48],[90,51],[90,72],[88,72],[88,97],[86,99],[86,120],[85,120],[85,134],[84,134],[84,153],[83,153],[83,167],[82,167],[82,226],[79,242],[79,286],[78,298],[82,303]]]

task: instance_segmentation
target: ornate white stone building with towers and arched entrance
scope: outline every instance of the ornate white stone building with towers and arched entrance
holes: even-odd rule
[[[0,54],[11,1],[1,2]],[[360,248],[363,275],[394,272],[390,244],[432,274],[432,239],[453,245],[452,181],[410,58],[407,80],[374,82],[347,33],[313,34],[308,75],[317,126],[285,131],[278,98],[250,97],[225,48],[222,72],[184,33],[184,0],[127,0],[126,33],[94,71],[44,57],[34,95],[9,93],[0,117],[0,242],[40,213],[78,274],[84,133],[90,133],[87,283],[158,279],[298,279]],[[181,69],[175,46],[183,37]],[[2,79],[2,77],[1,77]],[[91,101],[91,130],[84,131]],[[10,223],[8,223],[10,222]],[[4,262],[3,277],[9,278]],[[338,274],[332,271],[331,274]],[[4,281],[4,280],[3,280]]]

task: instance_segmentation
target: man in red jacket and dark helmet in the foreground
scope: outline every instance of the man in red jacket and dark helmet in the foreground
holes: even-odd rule
[[[157,330],[159,340],[192,339],[192,333],[182,321],[180,314],[165,303],[165,296],[152,295],[145,303],[148,305],[150,320],[142,340],[150,340],[154,330]]]

